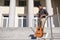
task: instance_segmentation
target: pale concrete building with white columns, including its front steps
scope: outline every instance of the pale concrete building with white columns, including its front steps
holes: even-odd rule
[[[0,0],[0,39],[31,39],[29,35],[34,32],[30,27],[35,29],[38,22],[38,3],[49,13],[43,37],[53,34],[60,40],[60,0]]]

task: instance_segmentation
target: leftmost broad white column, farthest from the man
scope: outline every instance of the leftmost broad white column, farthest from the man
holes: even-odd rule
[[[16,6],[16,0],[10,0],[9,27],[15,26],[15,6]]]

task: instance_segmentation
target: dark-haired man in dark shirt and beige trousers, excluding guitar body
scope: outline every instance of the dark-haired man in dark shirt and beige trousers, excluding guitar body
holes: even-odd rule
[[[39,12],[38,12],[38,27],[42,27],[44,26],[45,20],[46,20],[46,16],[48,15],[48,12],[43,9],[43,6],[41,4],[38,5],[39,8]]]

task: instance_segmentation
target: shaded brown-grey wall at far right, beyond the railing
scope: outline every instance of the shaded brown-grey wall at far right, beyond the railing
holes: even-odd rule
[[[60,21],[58,21],[58,15],[60,14],[60,0],[52,0],[52,8],[53,8],[53,12],[54,12],[54,24],[56,27],[59,27],[59,23]],[[57,12],[57,8],[58,8],[58,12]],[[58,15],[57,15],[58,13]],[[60,18],[59,18],[60,19]]]

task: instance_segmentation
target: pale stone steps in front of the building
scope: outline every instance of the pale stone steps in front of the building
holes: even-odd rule
[[[34,28],[35,29],[35,28]],[[50,38],[50,28],[45,28],[45,34],[43,38]],[[34,34],[31,28],[0,28],[0,40],[32,40],[29,35]],[[53,28],[53,38],[54,40],[60,40],[60,28]],[[50,39],[47,39],[50,40]]]

